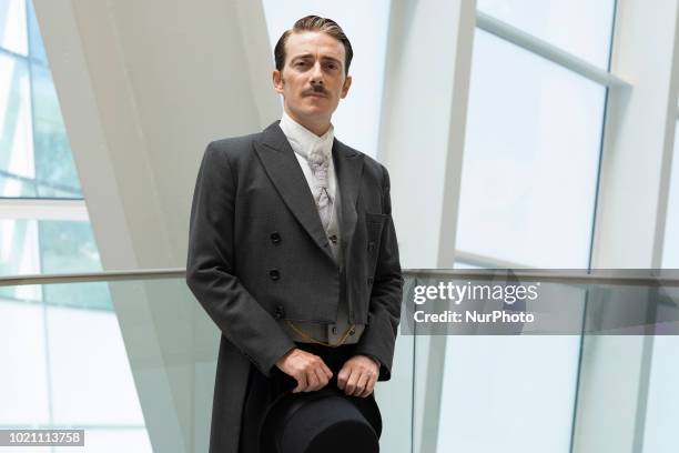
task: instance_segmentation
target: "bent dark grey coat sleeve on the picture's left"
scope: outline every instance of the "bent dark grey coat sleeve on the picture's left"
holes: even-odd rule
[[[222,334],[266,376],[295,344],[234,272],[237,180],[223,142],[207,145],[189,226],[186,284]]]

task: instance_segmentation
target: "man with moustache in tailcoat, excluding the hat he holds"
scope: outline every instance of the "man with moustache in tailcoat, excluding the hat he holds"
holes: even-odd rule
[[[186,282],[222,332],[210,452],[256,451],[286,390],[374,401],[391,378],[403,279],[389,178],[331,124],[352,56],[336,22],[300,19],[274,51],[280,123],[203,157]]]

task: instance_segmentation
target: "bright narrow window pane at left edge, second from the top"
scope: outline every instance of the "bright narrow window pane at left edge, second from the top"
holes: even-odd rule
[[[0,53],[0,197],[21,197],[26,189],[8,174],[33,179],[33,134],[29,71],[23,59]]]

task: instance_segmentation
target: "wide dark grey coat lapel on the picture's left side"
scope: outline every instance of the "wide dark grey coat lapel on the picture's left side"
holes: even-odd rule
[[[283,202],[314,242],[333,260],[306,178],[277,121],[264,130],[262,140],[255,142],[255,150]]]

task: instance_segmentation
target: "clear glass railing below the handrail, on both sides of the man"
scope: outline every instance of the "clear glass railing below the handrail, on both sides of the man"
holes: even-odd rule
[[[381,451],[679,447],[677,272],[405,276]],[[206,452],[217,345],[183,270],[1,278],[0,430]]]

